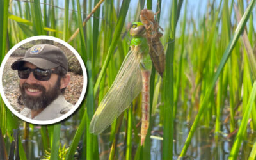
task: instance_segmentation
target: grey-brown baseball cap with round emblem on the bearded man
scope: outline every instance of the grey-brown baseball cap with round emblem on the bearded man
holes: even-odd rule
[[[19,70],[25,62],[32,63],[38,68],[49,70],[61,66],[68,70],[68,60],[64,52],[54,45],[38,44],[34,45],[28,51],[24,58],[21,58],[12,63],[13,70]]]

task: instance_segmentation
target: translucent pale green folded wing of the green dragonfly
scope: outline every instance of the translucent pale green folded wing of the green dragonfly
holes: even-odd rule
[[[140,58],[130,51],[113,82],[93,115],[90,132],[99,134],[131,104],[142,89]]]

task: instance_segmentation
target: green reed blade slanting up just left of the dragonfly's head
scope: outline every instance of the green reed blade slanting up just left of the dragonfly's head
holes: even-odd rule
[[[108,50],[108,54],[106,56],[106,60],[104,61],[104,64],[102,66],[102,70],[100,70],[99,77],[98,77],[98,79],[95,83],[94,89],[93,89],[94,95],[96,95],[96,93],[97,93],[100,81],[102,80],[102,77],[106,73],[106,68],[108,67],[108,63],[110,61],[110,58],[111,58],[111,56],[112,56],[112,54],[115,50],[116,44],[117,44],[117,42],[120,38],[121,31],[122,31],[122,28],[123,28],[124,22],[125,22],[125,17],[127,15],[127,11],[128,11],[128,8],[129,8],[129,4],[130,4],[130,0],[123,1],[123,3],[122,3],[121,10],[120,10],[120,13],[119,13],[119,16],[118,16],[118,21],[117,21],[117,24],[116,24],[116,29],[115,29],[115,32],[114,32],[114,35],[113,35],[111,45],[110,45],[109,50]]]

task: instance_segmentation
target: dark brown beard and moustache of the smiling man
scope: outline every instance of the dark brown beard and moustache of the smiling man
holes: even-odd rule
[[[33,88],[42,91],[40,96],[30,96],[25,93],[26,88]],[[53,100],[55,100],[60,94],[60,77],[56,84],[49,88],[49,91],[46,92],[44,86],[40,84],[28,84],[24,83],[20,86],[21,97],[23,100],[24,106],[31,110],[40,110],[46,108]]]

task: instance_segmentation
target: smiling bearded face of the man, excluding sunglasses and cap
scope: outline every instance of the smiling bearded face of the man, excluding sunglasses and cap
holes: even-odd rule
[[[24,63],[23,67],[37,68],[28,62]],[[20,79],[20,92],[27,108],[44,109],[60,95],[60,78],[57,74],[51,74],[48,81],[38,81],[33,72],[30,72],[27,79]]]

